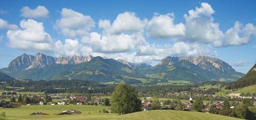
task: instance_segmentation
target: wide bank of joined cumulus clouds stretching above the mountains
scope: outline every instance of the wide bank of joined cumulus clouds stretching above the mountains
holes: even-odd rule
[[[124,59],[129,62],[159,61],[171,56],[216,56],[212,47],[225,47],[249,43],[256,36],[255,26],[235,22],[227,31],[219,29],[213,19],[215,10],[207,3],[201,3],[195,10],[184,14],[184,23],[174,23],[174,13],[157,14],[147,20],[126,11],[115,20],[99,20],[102,31],[91,32],[94,20],[72,9],[62,8],[61,18],[55,28],[66,40],[54,41],[44,31],[43,23],[22,20],[20,29],[10,29],[10,24],[0,19],[0,29],[7,32],[10,47],[25,50],[51,51],[58,56],[93,55]],[[2,27],[2,28],[1,28]],[[15,29],[14,29],[15,28]],[[148,43],[151,39],[172,40],[170,43]],[[176,41],[177,40],[177,41]]]

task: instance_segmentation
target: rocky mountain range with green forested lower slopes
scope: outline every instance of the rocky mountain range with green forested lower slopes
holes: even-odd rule
[[[37,53],[13,59],[7,68],[0,70],[15,79],[61,80],[81,79],[103,83],[150,84],[187,80],[234,81],[244,74],[226,62],[209,56],[167,56],[159,64],[130,63],[122,59],[100,56],[53,57]]]

